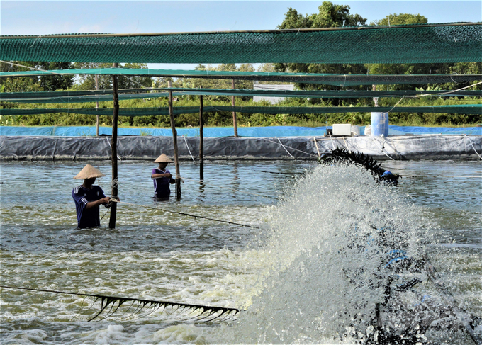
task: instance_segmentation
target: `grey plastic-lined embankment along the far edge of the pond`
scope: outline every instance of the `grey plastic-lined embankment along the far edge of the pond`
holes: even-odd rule
[[[179,159],[198,159],[199,137],[178,137]],[[206,137],[204,159],[315,159],[344,147],[380,160],[482,159],[481,135],[393,135],[388,137]],[[172,137],[118,137],[121,160],[152,160],[174,154]],[[103,160],[111,137],[2,136],[0,160]]]

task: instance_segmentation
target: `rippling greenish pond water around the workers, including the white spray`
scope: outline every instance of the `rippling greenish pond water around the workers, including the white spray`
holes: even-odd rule
[[[110,176],[108,164],[94,165]],[[76,229],[71,193],[82,181],[72,177],[84,165],[1,164],[1,285],[246,311],[207,324],[162,313],[87,322],[96,309],[89,310],[89,298],[2,288],[0,344],[340,342],[343,315],[363,315],[371,305],[354,301],[378,298],[340,274],[350,265],[370,266],[339,255],[346,246],[340,234],[361,219],[403,228],[459,305],[482,317],[480,162],[384,162],[405,176],[397,188],[376,185],[353,166],[298,161],[206,162],[200,182],[198,164],[182,162],[181,199],[172,193],[161,202],[152,198],[155,165],[120,162],[125,203],[115,230],[107,227],[108,214],[101,228]],[[303,171],[305,177],[290,175]],[[110,194],[109,177],[96,184]],[[456,327],[431,332],[439,344],[471,344]]]

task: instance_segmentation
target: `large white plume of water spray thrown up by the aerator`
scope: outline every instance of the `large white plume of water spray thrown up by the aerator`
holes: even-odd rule
[[[250,263],[259,266],[252,305],[237,324],[213,334],[213,342],[378,344],[380,305],[383,327],[424,341],[422,326],[440,316],[439,300],[407,289],[387,301],[392,279],[400,286],[413,278],[387,268],[390,253],[421,256],[431,232],[397,188],[377,184],[354,165],[318,166],[274,208],[271,225],[252,256],[259,262]]]

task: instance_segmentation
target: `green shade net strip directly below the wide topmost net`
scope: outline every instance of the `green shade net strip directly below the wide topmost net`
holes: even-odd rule
[[[1,42],[1,40],[0,40]],[[388,84],[444,84],[482,80],[482,74],[315,74],[284,72],[189,71],[184,69],[53,69],[51,71],[0,72],[0,77],[27,77],[55,74],[125,75],[196,79],[235,79],[276,81],[333,86],[388,85]]]

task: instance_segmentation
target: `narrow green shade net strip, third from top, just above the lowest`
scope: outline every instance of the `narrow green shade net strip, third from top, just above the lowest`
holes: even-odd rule
[[[232,89],[172,89],[173,96],[184,95],[211,95],[211,96],[266,96],[266,97],[304,97],[304,98],[371,98],[371,97],[410,97],[421,95],[434,96],[482,96],[482,90],[461,91],[304,91],[304,90],[276,90],[274,85],[271,90],[232,90]],[[145,91],[146,89],[131,89],[131,91]],[[138,98],[167,97],[168,89],[157,89],[164,92],[119,94],[119,99],[130,100]],[[0,94],[0,101],[11,103],[86,103],[113,101],[112,90],[98,91],[51,91],[51,92],[14,92]],[[123,90],[129,91],[129,90]]]

